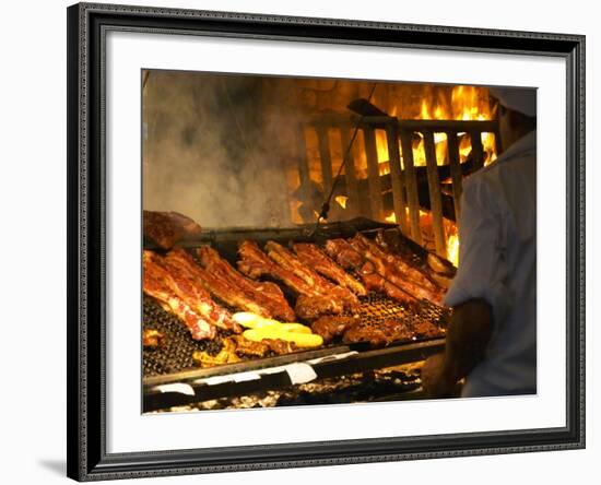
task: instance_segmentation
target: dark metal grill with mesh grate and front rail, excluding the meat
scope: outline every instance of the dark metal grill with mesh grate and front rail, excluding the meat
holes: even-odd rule
[[[211,245],[222,257],[235,263],[237,245],[243,239],[254,239],[259,244],[269,239],[283,245],[290,241],[319,244],[329,238],[352,237],[357,232],[373,237],[376,230],[397,230],[396,225],[366,218],[325,224],[320,226],[317,234],[309,237],[311,228],[311,225],[300,225],[285,229],[205,230],[195,239],[182,241],[181,245],[190,249]],[[398,236],[404,249],[412,255],[414,262],[426,264],[427,251],[401,233]],[[156,249],[151,244],[146,246]],[[417,320],[427,320],[445,329],[449,317],[448,310],[426,301],[422,301],[417,308],[409,309],[381,294],[370,293],[361,297],[360,300],[361,307],[355,315],[367,323],[378,323],[393,318],[403,320],[411,329]],[[291,365],[310,366],[311,371],[315,372],[315,379],[332,378],[422,360],[439,352],[444,346],[441,338],[399,341],[385,348],[372,348],[368,343],[349,345],[334,343],[319,350],[198,368],[193,365],[192,353],[205,351],[216,354],[221,345],[217,342],[197,342],[190,339],[187,329],[177,317],[167,314],[151,298],[144,298],[143,307],[144,329],[158,330],[166,336],[164,345],[142,352],[145,412],[290,387],[294,383],[294,378],[291,378]],[[221,336],[228,334],[226,331],[220,330],[220,332]]]

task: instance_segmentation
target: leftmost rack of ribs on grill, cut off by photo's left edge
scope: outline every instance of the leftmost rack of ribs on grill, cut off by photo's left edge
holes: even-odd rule
[[[176,296],[166,283],[168,273],[152,261],[152,257],[143,258],[143,291],[157,299],[161,305],[174,312],[188,328],[195,340],[212,340],[216,335],[215,327],[190,308],[180,297]]]

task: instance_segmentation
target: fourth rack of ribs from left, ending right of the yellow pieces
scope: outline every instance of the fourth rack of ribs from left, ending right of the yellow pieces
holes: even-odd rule
[[[219,279],[224,280],[238,292],[248,295],[262,307],[259,314],[266,318],[279,318],[283,321],[294,321],[294,310],[291,308],[280,286],[270,282],[258,282],[250,280],[224,260],[220,253],[209,247],[203,246],[197,249],[197,255],[202,267]]]

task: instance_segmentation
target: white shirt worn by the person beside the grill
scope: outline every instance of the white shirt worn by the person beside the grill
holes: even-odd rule
[[[493,308],[485,358],[462,397],[537,392],[537,132],[463,184],[459,269],[445,297]]]

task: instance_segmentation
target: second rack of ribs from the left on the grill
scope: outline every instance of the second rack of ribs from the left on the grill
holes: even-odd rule
[[[164,272],[164,282],[174,294],[208,322],[222,329],[240,332],[240,327],[232,320],[229,312],[211,299],[211,295],[196,281],[188,267],[182,264],[178,258],[169,257],[169,255],[163,258],[155,252],[144,251],[143,258],[149,263],[160,267]]]

